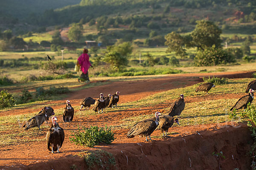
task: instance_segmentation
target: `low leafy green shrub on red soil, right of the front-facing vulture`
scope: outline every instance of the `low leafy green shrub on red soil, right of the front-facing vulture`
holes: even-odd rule
[[[111,142],[116,139],[114,133],[111,131],[111,128],[108,128],[107,125],[104,127],[91,126],[84,127],[82,126],[83,132],[80,131],[78,125],[78,130],[70,130],[71,134],[69,139],[72,143],[77,145],[85,145],[87,147],[93,147],[99,143],[111,144]]]

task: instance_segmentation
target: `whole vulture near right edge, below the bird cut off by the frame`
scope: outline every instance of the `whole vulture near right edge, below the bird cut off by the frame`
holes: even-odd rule
[[[243,108],[245,110],[247,108],[247,104],[253,102],[253,96],[254,96],[253,92],[254,92],[254,90],[251,88],[249,90],[249,94],[247,94],[246,96],[242,96],[236,102],[236,104],[233,106],[233,108],[230,109],[230,111],[233,111],[233,109],[241,109],[241,108]]]

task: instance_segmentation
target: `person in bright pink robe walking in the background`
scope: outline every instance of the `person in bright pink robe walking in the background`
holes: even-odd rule
[[[93,67],[89,61],[89,55],[88,53],[88,49],[84,48],[83,54],[81,54],[81,56],[77,59],[77,64],[80,65],[82,74],[80,75],[80,77],[78,78],[78,81],[80,82],[90,82],[89,76],[88,76],[88,69],[91,67]]]

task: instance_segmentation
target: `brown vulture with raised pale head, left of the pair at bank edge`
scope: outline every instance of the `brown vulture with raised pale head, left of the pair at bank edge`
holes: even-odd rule
[[[134,136],[140,135],[146,137],[146,142],[148,142],[147,136],[149,136],[149,140],[153,141],[150,135],[158,126],[159,115],[161,115],[161,113],[156,112],[154,118],[137,122],[127,133],[126,137],[133,138]]]

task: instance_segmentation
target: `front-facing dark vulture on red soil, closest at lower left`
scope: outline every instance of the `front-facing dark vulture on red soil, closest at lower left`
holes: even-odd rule
[[[65,138],[64,130],[59,127],[57,117],[52,116],[52,127],[50,127],[46,134],[47,148],[49,151],[59,153]]]

